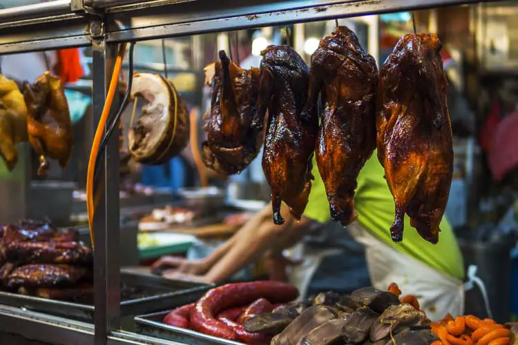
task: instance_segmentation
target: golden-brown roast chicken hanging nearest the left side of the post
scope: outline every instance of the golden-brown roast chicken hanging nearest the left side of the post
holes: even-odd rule
[[[73,148],[72,121],[61,79],[45,72],[23,90],[28,119],[27,132],[39,156],[38,175],[45,176],[48,159],[57,159],[65,168]]]

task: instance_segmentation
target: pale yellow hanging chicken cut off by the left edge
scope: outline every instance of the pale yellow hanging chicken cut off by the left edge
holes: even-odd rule
[[[16,144],[27,141],[27,107],[15,81],[0,75],[0,155],[9,171],[18,162]]]

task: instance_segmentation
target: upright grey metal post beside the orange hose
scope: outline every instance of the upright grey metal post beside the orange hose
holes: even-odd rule
[[[108,92],[109,79],[117,44],[106,44],[104,37],[94,39],[93,48],[93,123],[97,128]],[[112,112],[118,108],[118,92]],[[113,113],[111,114],[113,117]],[[110,118],[111,118],[110,117]],[[92,136],[93,137],[93,136]],[[95,292],[95,345],[105,345],[108,334],[120,326],[119,282],[119,148],[118,135],[106,145],[106,156],[99,167],[99,186],[102,193],[95,208],[94,292]],[[94,195],[94,199],[98,196]]]

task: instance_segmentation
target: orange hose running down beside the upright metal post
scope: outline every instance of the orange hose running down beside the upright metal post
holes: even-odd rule
[[[93,201],[93,176],[95,172],[95,160],[99,154],[99,146],[104,135],[104,128],[106,127],[106,120],[110,113],[111,104],[113,103],[113,97],[115,97],[115,90],[119,83],[119,74],[122,68],[122,59],[124,59],[124,53],[126,52],[126,43],[122,43],[115,59],[115,66],[113,67],[113,73],[111,75],[110,87],[108,88],[108,95],[106,95],[106,101],[104,102],[104,108],[102,109],[101,119],[97,124],[97,130],[93,137],[92,150],[90,150],[90,158],[88,159],[88,170],[86,172],[86,210],[88,212],[88,226],[90,226],[90,240],[92,241],[92,248],[94,248],[94,230],[93,230],[93,213],[95,205]]]

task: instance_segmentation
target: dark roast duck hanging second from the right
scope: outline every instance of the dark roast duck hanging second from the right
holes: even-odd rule
[[[323,112],[316,144],[318,171],[332,219],[347,226],[356,219],[356,177],[376,148],[376,61],[356,34],[339,26],[311,56],[307,111],[321,92]]]

